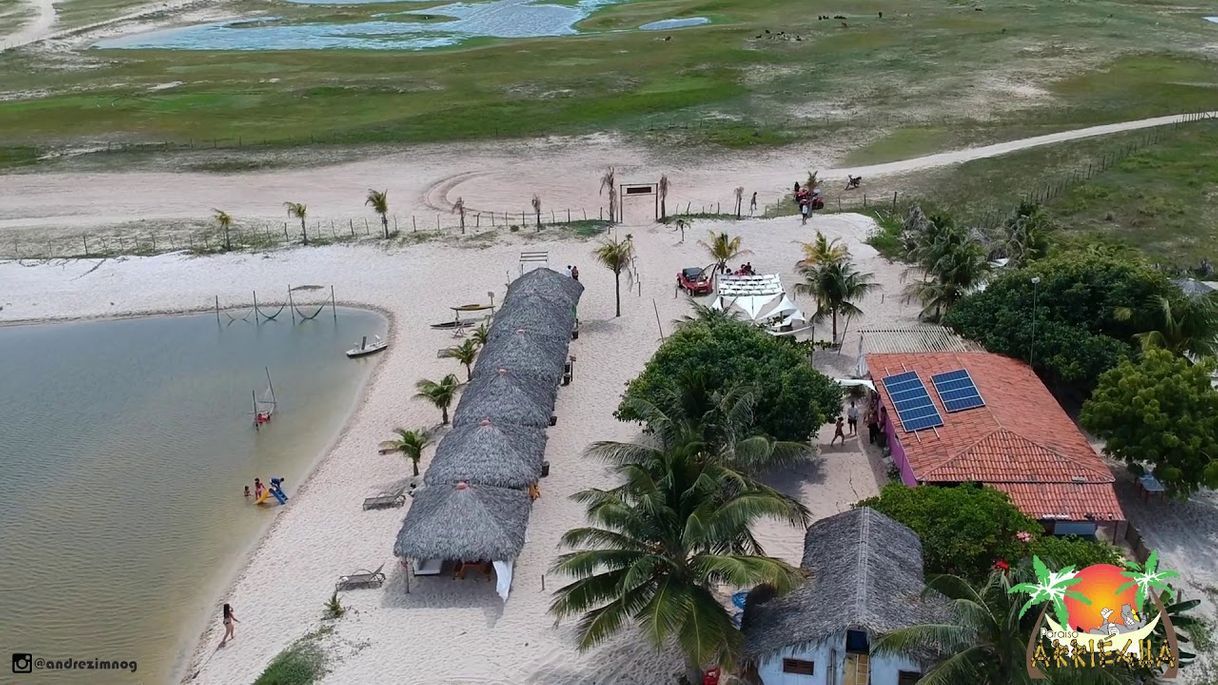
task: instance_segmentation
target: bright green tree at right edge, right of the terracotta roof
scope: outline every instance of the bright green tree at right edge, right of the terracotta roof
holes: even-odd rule
[[[1147,466],[1175,494],[1218,488],[1218,392],[1207,364],[1147,350],[1100,377],[1083,425],[1135,473]]]

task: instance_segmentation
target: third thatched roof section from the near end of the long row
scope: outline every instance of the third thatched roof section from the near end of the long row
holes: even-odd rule
[[[549,425],[557,391],[554,384],[507,368],[482,373],[465,385],[453,412],[453,425],[488,418],[499,424],[544,428]]]

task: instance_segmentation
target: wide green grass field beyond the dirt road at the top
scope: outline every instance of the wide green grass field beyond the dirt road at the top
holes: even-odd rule
[[[106,12],[124,2],[99,1]],[[94,0],[72,5],[101,11]],[[284,21],[419,7],[257,6]],[[600,10],[577,37],[424,52],[10,52],[0,55],[0,145],[417,143],[608,129],[676,147],[849,135],[864,141],[851,155],[862,163],[1218,101],[1218,61],[1185,51],[1218,33],[1200,11],[1106,0],[849,7],[843,22],[816,20],[838,12],[827,0],[635,0]],[[715,23],[633,30],[674,16]],[[153,90],[173,82],[183,83]]]

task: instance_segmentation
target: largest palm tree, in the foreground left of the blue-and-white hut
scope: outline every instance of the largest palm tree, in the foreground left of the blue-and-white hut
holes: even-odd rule
[[[592,525],[563,535],[575,551],[553,569],[575,580],[554,592],[549,611],[559,619],[581,614],[580,650],[627,623],[655,647],[675,641],[688,680],[700,683],[703,665],[731,665],[743,641],[713,589],[793,587],[799,570],[764,556],[752,528],[764,518],[803,520],[790,520],[782,500],[725,480],[722,469],[687,452],[664,453],[655,467],[621,466],[628,486],[572,497]]]

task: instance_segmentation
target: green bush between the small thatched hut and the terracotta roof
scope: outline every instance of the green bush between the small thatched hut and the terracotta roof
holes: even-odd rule
[[[951,573],[972,580],[984,579],[999,559],[1021,559],[1027,545],[1017,535],[1041,530],[1006,494],[980,485],[907,488],[894,483],[878,497],[855,506],[871,507],[910,527],[922,540],[927,574]]]

